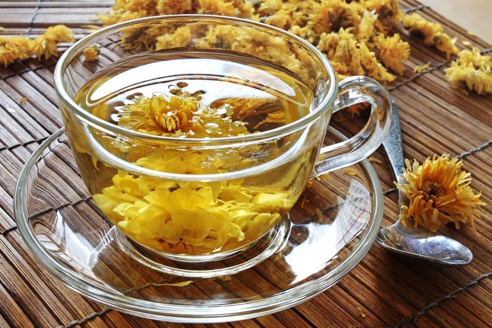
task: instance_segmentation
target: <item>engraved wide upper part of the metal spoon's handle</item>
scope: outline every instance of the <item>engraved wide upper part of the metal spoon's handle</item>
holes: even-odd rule
[[[403,160],[403,144],[401,142],[400,116],[398,115],[397,105],[395,100],[390,95],[393,119],[391,121],[388,135],[383,141],[383,147],[386,150],[386,155],[393,168],[397,182],[400,182],[400,174],[403,173],[405,162]]]

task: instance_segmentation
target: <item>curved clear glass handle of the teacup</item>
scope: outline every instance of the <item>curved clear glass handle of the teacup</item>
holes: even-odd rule
[[[367,102],[372,111],[364,128],[352,138],[321,148],[311,179],[361,161],[376,150],[390,129],[392,112],[388,92],[368,76],[340,81],[333,113],[350,105]]]

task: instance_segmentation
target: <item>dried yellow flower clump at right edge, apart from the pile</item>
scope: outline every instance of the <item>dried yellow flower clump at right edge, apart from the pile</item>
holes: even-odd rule
[[[481,55],[478,48],[473,47],[472,51],[462,50],[458,59],[453,60],[451,67],[444,71],[446,79],[451,81],[453,87],[464,93],[467,93],[465,88],[478,94],[492,92],[491,57]]]

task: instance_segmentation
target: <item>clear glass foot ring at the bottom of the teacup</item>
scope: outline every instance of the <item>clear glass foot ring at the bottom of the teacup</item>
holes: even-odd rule
[[[126,237],[116,227],[111,234],[120,248],[140,264],[154,270],[189,278],[219,278],[251,268],[279,251],[289,239],[291,221],[286,215],[268,234],[239,250],[198,258],[158,252]]]

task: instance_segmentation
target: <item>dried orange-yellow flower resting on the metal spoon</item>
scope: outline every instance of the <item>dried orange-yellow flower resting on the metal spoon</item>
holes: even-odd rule
[[[404,223],[412,218],[415,226],[435,232],[443,223],[452,222],[459,229],[460,222],[469,222],[475,230],[473,216],[480,218],[477,208],[486,204],[479,200],[481,193],[475,195],[470,188],[471,175],[461,170],[461,160],[443,154],[428,157],[422,165],[414,161],[411,166],[408,159],[405,164],[403,182],[395,182],[409,199],[409,204],[401,207]]]

